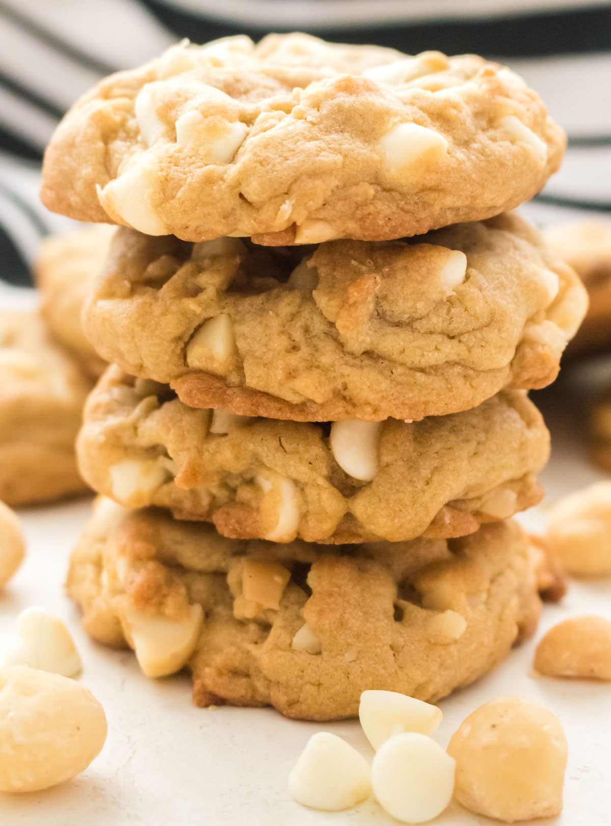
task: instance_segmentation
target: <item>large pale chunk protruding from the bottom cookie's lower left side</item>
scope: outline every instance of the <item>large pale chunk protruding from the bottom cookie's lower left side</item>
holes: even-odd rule
[[[144,614],[132,607],[121,610],[125,636],[134,648],[146,676],[167,676],[186,664],[200,636],[204,612],[189,606],[185,619]]]

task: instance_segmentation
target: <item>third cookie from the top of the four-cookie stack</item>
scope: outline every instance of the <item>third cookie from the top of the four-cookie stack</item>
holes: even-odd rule
[[[313,424],[191,408],[111,367],[84,418],[78,457],[94,490],[275,542],[468,534],[539,501],[549,451],[520,391],[420,422]]]

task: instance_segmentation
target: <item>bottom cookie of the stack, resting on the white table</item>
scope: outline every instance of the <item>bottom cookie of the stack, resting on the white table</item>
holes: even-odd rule
[[[224,539],[210,525],[105,501],[75,548],[68,594],[93,638],[143,671],[183,665],[197,705],[358,714],[365,689],[435,702],[533,633],[540,603],[511,521],[463,539],[324,546]]]

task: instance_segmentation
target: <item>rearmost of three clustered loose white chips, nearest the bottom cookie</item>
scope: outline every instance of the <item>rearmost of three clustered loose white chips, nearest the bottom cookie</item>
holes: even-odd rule
[[[406,731],[432,734],[443,716],[436,705],[396,691],[370,690],[360,695],[360,724],[376,751],[396,734]]]

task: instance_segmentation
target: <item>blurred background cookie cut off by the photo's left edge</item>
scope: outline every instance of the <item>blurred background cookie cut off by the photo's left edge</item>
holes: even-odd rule
[[[87,490],[74,439],[89,388],[37,314],[0,313],[0,500],[21,506]]]

